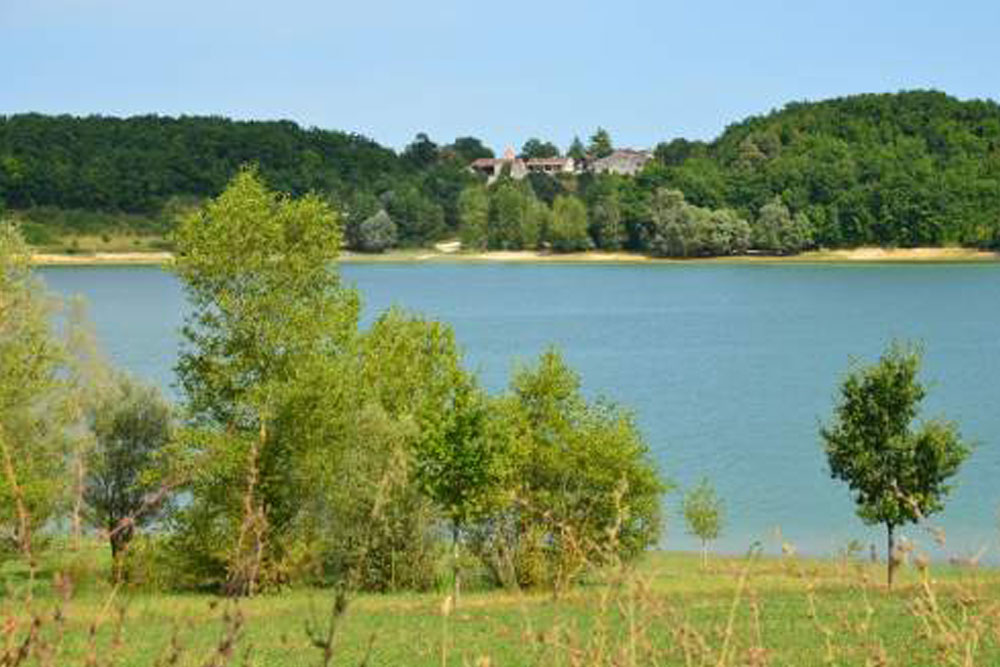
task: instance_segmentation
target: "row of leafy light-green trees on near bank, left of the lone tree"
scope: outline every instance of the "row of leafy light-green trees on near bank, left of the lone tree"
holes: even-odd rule
[[[555,351],[489,394],[448,326],[362,330],[320,198],[242,171],[176,243],[181,407],[109,369],[79,316],[52,324],[0,224],[0,555],[90,526],[136,585],[558,589],[657,541],[667,485],[631,414]]]

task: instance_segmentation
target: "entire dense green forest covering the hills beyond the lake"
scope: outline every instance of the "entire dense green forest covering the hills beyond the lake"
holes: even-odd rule
[[[606,154],[599,129],[578,159]],[[553,157],[530,138],[521,155]],[[635,176],[532,173],[487,185],[474,137],[395,152],[353,134],[215,117],[0,117],[0,201],[29,240],[166,235],[247,163],[341,211],[347,244],[628,249],[656,256],[858,245],[1000,246],[1000,107],[914,91],[793,103],[712,142],[675,139]]]

